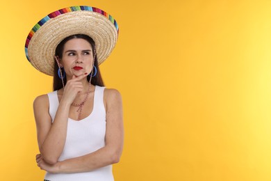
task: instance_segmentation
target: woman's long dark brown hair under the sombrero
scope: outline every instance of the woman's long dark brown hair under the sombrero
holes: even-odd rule
[[[69,40],[74,39],[74,38],[82,38],[83,40],[87,40],[90,43],[93,52],[95,52],[94,54],[96,54],[95,41],[92,38],[90,38],[89,36],[86,36],[86,35],[83,35],[83,34],[76,34],[76,35],[66,37],[64,40],[62,40],[58,44],[58,46],[56,47],[55,56],[58,56],[58,58],[62,58],[65,43],[67,41],[69,41]],[[59,90],[60,88],[63,88],[63,84],[62,84],[61,79],[58,77],[58,63],[56,63],[56,61],[55,61],[54,64],[55,65],[54,65],[53,89],[54,89],[54,91],[56,91],[56,90]],[[101,73],[100,73],[100,70],[99,70],[97,54],[95,56],[94,65],[97,68],[97,74],[96,74],[95,77],[92,77],[91,84],[97,85],[97,86],[104,86],[104,81],[103,81],[103,79],[101,79]],[[66,85],[66,82],[67,82],[66,77],[63,79],[63,81],[64,81],[64,85]],[[90,81],[90,76],[88,76],[88,81]]]

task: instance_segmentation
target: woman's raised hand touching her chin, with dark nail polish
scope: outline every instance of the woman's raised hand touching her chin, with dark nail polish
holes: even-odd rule
[[[74,102],[74,99],[77,95],[77,93],[83,91],[83,84],[81,82],[81,79],[88,76],[88,73],[81,74],[79,77],[72,76],[72,79],[67,81],[67,84],[64,89],[63,93],[63,100],[67,101],[68,104],[72,104]]]

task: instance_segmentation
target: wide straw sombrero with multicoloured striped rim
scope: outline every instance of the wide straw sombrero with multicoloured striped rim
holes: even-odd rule
[[[90,6],[72,6],[42,18],[26,38],[28,61],[40,72],[54,75],[57,45],[75,34],[90,36],[96,44],[98,63],[103,63],[113,51],[119,33],[115,19],[104,10]]]

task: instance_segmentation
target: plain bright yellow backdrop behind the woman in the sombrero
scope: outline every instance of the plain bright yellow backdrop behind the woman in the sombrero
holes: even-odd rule
[[[120,37],[101,65],[124,102],[116,181],[271,180],[271,1],[1,2],[0,180],[42,180],[32,104],[52,79],[25,58],[48,13],[94,6]]]

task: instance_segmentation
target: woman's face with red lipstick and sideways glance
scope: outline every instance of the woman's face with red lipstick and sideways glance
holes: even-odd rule
[[[92,47],[87,40],[74,38],[65,43],[60,63],[64,67],[67,79],[71,79],[72,75],[78,77],[85,72],[90,74],[93,61]]]

